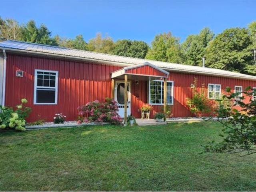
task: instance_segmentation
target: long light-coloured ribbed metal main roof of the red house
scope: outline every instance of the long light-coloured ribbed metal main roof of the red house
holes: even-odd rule
[[[191,66],[184,64],[168,63],[154,60],[130,58],[123,56],[116,56],[110,54],[96,53],[84,50],[76,50],[70,48],[63,48],[58,46],[50,46],[36,43],[28,43],[21,41],[8,40],[0,42],[0,49],[11,50],[15,52],[26,52],[26,53],[36,53],[43,55],[51,55],[65,58],[79,58],[82,60],[98,60],[105,61],[110,63],[118,63],[126,66],[134,64],[142,64],[144,62],[149,62],[157,67],[163,68],[165,70],[175,71],[175,72],[187,72],[193,74],[204,74],[211,76],[222,76],[238,79],[248,79],[256,80],[256,76],[230,72],[220,69],[200,67],[200,66]]]

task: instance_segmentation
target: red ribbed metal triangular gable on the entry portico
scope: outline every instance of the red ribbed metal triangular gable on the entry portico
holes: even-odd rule
[[[126,73],[130,74],[140,74],[140,75],[152,75],[152,76],[162,76],[167,77],[167,75],[151,66],[145,65],[140,66],[132,69],[128,69],[125,71]]]

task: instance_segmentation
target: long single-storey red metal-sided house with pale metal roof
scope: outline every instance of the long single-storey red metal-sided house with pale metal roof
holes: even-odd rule
[[[12,40],[0,42],[0,104],[14,107],[27,98],[32,108],[28,121],[51,121],[55,113],[75,120],[78,106],[106,97],[118,102],[122,117],[126,109],[127,115],[140,118],[140,107],[149,103],[152,118],[164,101],[174,117],[191,116],[186,98],[191,97],[195,77],[198,86],[206,85],[211,99],[227,86],[234,92],[256,87],[256,77],[225,70]]]

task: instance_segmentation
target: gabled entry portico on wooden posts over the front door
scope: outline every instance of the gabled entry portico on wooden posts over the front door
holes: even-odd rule
[[[116,82],[120,82],[120,80],[124,81],[123,85],[123,93],[124,93],[124,122],[127,120],[127,108],[131,108],[132,104],[129,100],[129,95],[131,94],[130,86],[128,86],[129,81],[139,81],[139,80],[164,80],[164,113],[166,113],[166,105],[167,105],[167,78],[169,76],[169,72],[163,70],[149,62],[144,62],[142,64],[136,66],[128,66],[121,68],[120,70],[114,71],[111,74],[112,78],[112,98],[115,99],[118,104],[119,97],[122,97],[122,93],[120,92],[120,87],[117,87],[118,84]],[[130,85],[130,84],[129,84]],[[119,90],[119,92],[118,92]],[[121,104],[122,105],[122,104]]]

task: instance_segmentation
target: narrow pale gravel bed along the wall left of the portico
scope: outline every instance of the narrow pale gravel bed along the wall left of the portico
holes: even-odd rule
[[[53,122],[45,122],[42,125],[31,125],[31,126],[25,126],[26,130],[30,129],[43,129],[43,128],[58,128],[58,127],[80,127],[80,126],[86,126],[86,125],[107,125],[109,123],[106,122],[87,122],[82,124],[77,124],[76,121],[66,121],[64,123],[60,124],[54,124]]]

